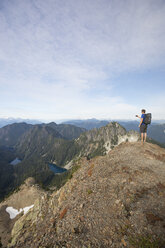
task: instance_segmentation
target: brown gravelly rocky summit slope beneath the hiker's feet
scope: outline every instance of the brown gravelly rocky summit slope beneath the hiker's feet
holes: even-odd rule
[[[13,248],[164,248],[165,150],[124,142],[77,171],[14,224]]]

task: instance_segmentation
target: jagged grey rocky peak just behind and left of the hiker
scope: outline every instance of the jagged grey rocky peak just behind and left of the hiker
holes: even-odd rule
[[[105,155],[122,142],[136,142],[138,140],[138,132],[127,132],[119,123],[110,122],[99,129],[94,128],[82,133],[76,142],[81,147],[80,156],[94,157]]]

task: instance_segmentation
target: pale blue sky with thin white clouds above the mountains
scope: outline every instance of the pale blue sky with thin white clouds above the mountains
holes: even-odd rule
[[[165,1],[0,0],[0,117],[165,119]]]

